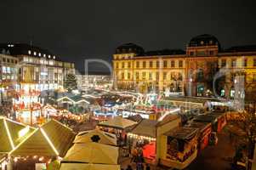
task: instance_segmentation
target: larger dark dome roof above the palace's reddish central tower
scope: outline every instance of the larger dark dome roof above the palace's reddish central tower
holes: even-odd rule
[[[189,47],[200,47],[200,46],[210,46],[218,45],[220,48],[219,40],[209,34],[202,34],[200,36],[193,37],[189,43]]]

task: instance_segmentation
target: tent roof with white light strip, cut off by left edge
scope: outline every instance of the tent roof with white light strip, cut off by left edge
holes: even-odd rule
[[[0,152],[9,152],[23,142],[35,129],[0,116]]]

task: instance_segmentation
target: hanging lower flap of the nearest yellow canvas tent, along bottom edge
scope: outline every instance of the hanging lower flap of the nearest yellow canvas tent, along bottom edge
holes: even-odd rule
[[[120,166],[87,163],[62,163],[60,170],[120,170]]]

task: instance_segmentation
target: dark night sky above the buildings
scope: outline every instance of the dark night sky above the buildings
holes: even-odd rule
[[[0,42],[32,41],[81,70],[84,59],[111,61],[123,42],[185,48],[208,33],[224,48],[256,44],[255,6],[253,0],[0,0]]]

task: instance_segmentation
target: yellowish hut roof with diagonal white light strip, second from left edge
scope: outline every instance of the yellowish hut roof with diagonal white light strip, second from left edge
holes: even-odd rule
[[[23,142],[11,156],[65,156],[72,144],[75,133],[57,121],[45,123]]]

